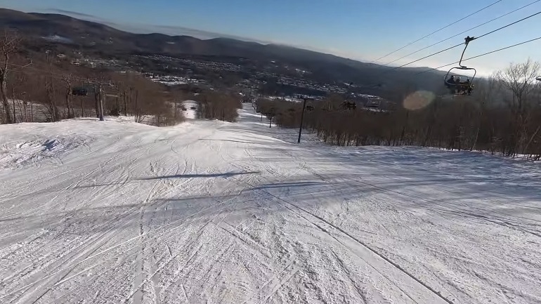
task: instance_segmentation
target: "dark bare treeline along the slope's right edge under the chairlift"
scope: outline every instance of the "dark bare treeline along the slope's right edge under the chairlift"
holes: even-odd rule
[[[511,64],[474,95],[444,98],[404,91],[397,107],[344,110],[339,95],[308,103],[304,128],[334,145],[418,145],[478,150],[509,157],[541,158],[541,90],[537,62]],[[258,100],[258,110],[276,124],[298,128],[302,103]]]

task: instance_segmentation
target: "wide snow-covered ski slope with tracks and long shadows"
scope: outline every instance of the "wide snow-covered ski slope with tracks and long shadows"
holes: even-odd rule
[[[538,164],[240,121],[0,126],[0,303],[540,303]]]

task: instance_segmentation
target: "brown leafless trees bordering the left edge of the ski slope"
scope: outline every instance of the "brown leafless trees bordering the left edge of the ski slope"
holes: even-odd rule
[[[74,89],[86,95],[74,94]],[[0,122],[58,121],[126,115],[155,126],[183,120],[185,93],[131,72],[72,65],[55,53],[29,53],[13,32],[0,37]]]

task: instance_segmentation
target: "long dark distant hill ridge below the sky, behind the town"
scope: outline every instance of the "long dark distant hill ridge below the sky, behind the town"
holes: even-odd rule
[[[353,81],[370,88],[367,93],[374,94],[405,85],[436,90],[443,83],[443,72],[440,71],[415,75],[419,71],[426,70],[426,67],[401,68],[396,72],[382,74],[390,68],[291,46],[259,44],[229,38],[203,40],[157,33],[133,34],[67,15],[22,13],[0,9],[0,26],[18,29],[25,37],[32,37],[34,44],[39,41],[44,43],[53,41],[105,54],[140,52],[173,56],[209,55],[262,61],[277,60],[304,67],[325,79]]]

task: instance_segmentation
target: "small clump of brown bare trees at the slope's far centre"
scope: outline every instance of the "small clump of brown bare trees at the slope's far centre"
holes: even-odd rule
[[[205,90],[195,96],[197,118],[237,121],[238,109],[242,108],[240,95],[234,92]]]

